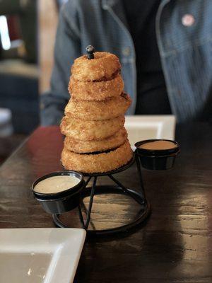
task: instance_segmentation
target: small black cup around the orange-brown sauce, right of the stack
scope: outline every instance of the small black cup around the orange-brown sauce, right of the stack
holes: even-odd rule
[[[141,149],[141,144],[147,144],[152,141],[170,141],[176,146],[173,149]],[[149,170],[167,170],[174,166],[175,158],[179,154],[179,144],[170,139],[146,139],[138,141],[135,144],[136,154],[139,156],[143,168]]]

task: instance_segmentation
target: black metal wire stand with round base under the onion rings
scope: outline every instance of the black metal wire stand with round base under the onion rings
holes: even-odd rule
[[[133,163],[136,161],[136,166],[137,166],[137,173],[139,175],[139,181],[140,181],[140,188],[139,192],[136,192],[135,190],[129,189],[122,185],[122,183],[119,182],[116,178],[114,178],[114,174],[125,171],[129,167],[133,165]],[[79,218],[82,224],[83,229],[86,229],[88,235],[111,235],[114,233],[120,233],[120,232],[126,232],[129,231],[129,229],[132,229],[139,224],[143,223],[143,221],[146,220],[148,215],[151,212],[150,204],[146,200],[146,194],[145,190],[143,187],[143,179],[141,175],[141,165],[139,158],[133,156],[131,161],[127,163],[125,166],[122,166],[121,168],[118,168],[117,170],[110,171],[107,173],[93,173],[93,174],[85,174],[88,177],[88,180],[86,180],[86,185],[85,185],[85,190],[83,191],[82,194],[82,199],[85,197],[88,197],[90,195],[90,202],[88,205],[88,212],[87,212],[87,218],[86,221],[83,219],[83,214],[81,210],[81,205],[78,206],[78,214]],[[102,176],[108,176],[116,185],[100,185],[97,186],[97,180],[99,177]],[[93,178],[93,185],[91,187],[87,187],[88,183],[90,180]],[[131,197],[135,202],[137,202],[140,206],[141,209],[139,211],[139,214],[136,216],[136,219],[133,221],[129,222],[129,224],[125,224],[122,226],[119,226],[117,228],[112,228],[112,229],[104,229],[104,230],[93,230],[93,229],[88,229],[89,223],[90,223],[90,214],[92,211],[92,206],[93,206],[93,197],[94,195],[100,195],[100,194],[110,194],[110,193],[115,193],[115,194],[124,194],[128,195]],[[58,227],[68,227],[66,224],[64,224],[60,219],[59,219],[59,214],[53,214],[53,221],[54,224]]]

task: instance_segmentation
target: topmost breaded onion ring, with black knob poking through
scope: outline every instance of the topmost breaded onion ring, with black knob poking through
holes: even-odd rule
[[[95,52],[94,59],[88,59],[87,55],[78,57],[71,67],[71,74],[78,81],[102,81],[111,79],[121,64],[116,55],[108,52]]]

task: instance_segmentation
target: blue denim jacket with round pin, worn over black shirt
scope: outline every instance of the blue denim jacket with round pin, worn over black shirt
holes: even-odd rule
[[[187,15],[187,18],[186,18]],[[167,93],[178,122],[212,116],[212,1],[163,0],[155,29]],[[51,90],[41,96],[42,125],[59,124],[69,100],[70,67],[87,45],[117,54],[136,107],[136,54],[121,0],[70,0],[62,6]]]

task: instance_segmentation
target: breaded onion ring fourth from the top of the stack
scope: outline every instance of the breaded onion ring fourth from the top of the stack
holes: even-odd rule
[[[124,126],[124,115],[110,120],[84,121],[66,115],[61,121],[61,133],[73,139],[93,141],[107,139]]]

